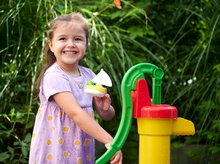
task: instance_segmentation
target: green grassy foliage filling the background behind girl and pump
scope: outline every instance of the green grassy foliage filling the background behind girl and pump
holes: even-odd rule
[[[38,101],[37,72],[43,63],[48,22],[56,15],[81,11],[90,23],[85,63],[104,68],[116,117],[100,122],[112,135],[121,116],[121,80],[140,62],[165,70],[162,100],[190,119],[196,135],[173,137],[185,144],[205,144],[220,152],[220,4],[218,1],[14,0],[0,2],[0,162],[27,163]],[[151,81],[149,81],[151,86]],[[134,120],[123,147],[124,161],[137,163],[138,134]],[[6,144],[7,141],[7,144]]]

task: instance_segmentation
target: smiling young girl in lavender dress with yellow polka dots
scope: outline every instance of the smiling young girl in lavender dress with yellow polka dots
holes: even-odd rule
[[[94,139],[109,148],[112,136],[95,120],[93,108],[105,120],[114,108],[108,94],[92,97],[83,88],[95,74],[79,65],[88,43],[88,25],[80,13],[51,22],[46,66],[39,77],[40,107],[36,115],[29,163],[92,164]],[[118,151],[110,163],[122,163]]]

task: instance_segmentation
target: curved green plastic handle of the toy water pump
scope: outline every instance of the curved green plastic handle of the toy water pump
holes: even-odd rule
[[[121,84],[122,93],[122,116],[117,133],[112,141],[111,147],[96,160],[96,164],[105,164],[119,151],[127,139],[132,123],[132,97],[131,90],[135,90],[136,81],[144,78],[144,74],[150,74],[153,79],[152,99],[153,104],[161,103],[161,80],[164,75],[162,69],[150,63],[140,63],[131,67],[124,75]]]

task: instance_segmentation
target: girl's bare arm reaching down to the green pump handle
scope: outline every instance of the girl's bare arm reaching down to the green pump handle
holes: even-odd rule
[[[85,133],[101,143],[104,143],[106,148],[109,148],[113,138],[108,134],[87,112],[77,103],[75,97],[70,92],[61,92],[53,95],[56,103],[61,109],[80,127]],[[111,164],[122,164],[122,152],[118,151],[111,158]]]

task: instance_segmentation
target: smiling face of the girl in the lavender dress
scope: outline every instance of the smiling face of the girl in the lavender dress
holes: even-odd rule
[[[54,30],[54,36],[48,42],[57,63],[68,72],[77,71],[86,44],[86,34],[79,22],[62,23]]]

